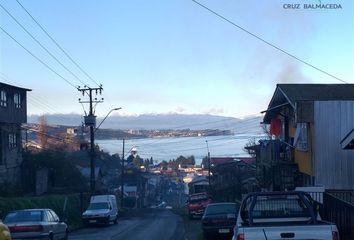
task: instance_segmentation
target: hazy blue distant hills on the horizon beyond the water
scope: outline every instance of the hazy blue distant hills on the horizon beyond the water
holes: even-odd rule
[[[28,123],[38,123],[38,115],[28,116]],[[78,114],[50,114],[46,115],[48,124],[79,126],[83,121]],[[97,122],[102,119],[98,118]],[[144,114],[139,116],[110,116],[101,128],[106,129],[220,129],[232,130],[234,133],[259,134],[263,133],[260,127],[260,116],[238,119],[201,114]]]

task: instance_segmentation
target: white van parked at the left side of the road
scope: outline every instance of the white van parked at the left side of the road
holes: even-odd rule
[[[88,224],[109,224],[118,222],[118,207],[115,195],[92,196],[90,205],[82,214],[82,221]]]

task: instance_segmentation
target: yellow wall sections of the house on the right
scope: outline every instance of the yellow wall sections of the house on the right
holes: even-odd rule
[[[312,134],[312,136],[310,137],[308,135],[307,136],[307,140],[309,141],[310,138],[312,139],[312,155],[314,153],[314,149],[313,149],[313,146],[314,146],[314,139],[313,139],[314,130],[313,129],[314,129],[314,126],[311,123],[311,134]],[[296,124],[294,124],[293,122],[290,122],[289,123],[289,135],[290,135],[290,137],[294,137],[295,136],[295,130],[296,130]],[[310,175],[310,169],[311,169],[311,167],[310,167],[310,162],[311,162],[311,159],[310,159],[310,147],[311,146],[308,145],[308,148],[307,148],[306,152],[299,151],[297,149],[294,150],[294,159],[295,159],[295,162],[299,165],[299,171],[302,172],[302,173],[306,173],[307,175]]]

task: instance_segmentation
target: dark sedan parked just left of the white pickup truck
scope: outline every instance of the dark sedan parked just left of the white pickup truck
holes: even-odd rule
[[[232,202],[212,203],[202,217],[204,239],[232,237],[240,204]]]

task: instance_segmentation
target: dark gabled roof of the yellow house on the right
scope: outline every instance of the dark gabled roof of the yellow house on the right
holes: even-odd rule
[[[299,101],[354,100],[354,84],[277,84],[273,97],[264,111],[263,122],[269,123],[274,112]]]

